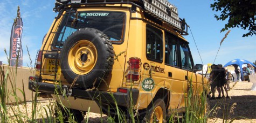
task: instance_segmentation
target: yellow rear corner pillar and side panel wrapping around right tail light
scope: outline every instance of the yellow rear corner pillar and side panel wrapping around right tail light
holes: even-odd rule
[[[153,100],[157,91],[164,87],[164,34],[163,30],[141,19],[132,19],[130,24],[127,59],[130,57],[141,59],[141,78],[139,84],[133,88],[139,88],[137,105],[140,106],[139,109],[144,109]],[[152,79],[154,85],[146,82],[149,78]],[[124,85],[126,87],[131,85],[126,80],[124,82],[126,82]]]

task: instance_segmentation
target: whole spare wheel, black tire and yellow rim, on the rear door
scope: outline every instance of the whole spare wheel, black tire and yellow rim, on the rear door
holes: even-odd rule
[[[100,30],[82,28],[71,34],[61,50],[61,73],[79,88],[98,87],[114,63],[111,41]]]

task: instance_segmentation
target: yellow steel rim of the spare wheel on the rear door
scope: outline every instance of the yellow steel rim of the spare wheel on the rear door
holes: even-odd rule
[[[68,52],[68,65],[74,73],[84,75],[93,70],[97,57],[94,44],[87,40],[80,40]]]

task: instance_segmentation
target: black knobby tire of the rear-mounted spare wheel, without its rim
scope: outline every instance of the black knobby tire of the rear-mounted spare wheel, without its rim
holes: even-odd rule
[[[72,46],[80,40],[87,40],[93,43],[98,52],[98,60],[93,70],[85,75],[78,75],[74,73],[68,65],[68,52]],[[101,79],[106,79],[108,74],[112,71],[114,64],[114,50],[112,42],[106,34],[94,28],[81,28],[73,32],[67,37],[64,43],[63,50],[61,51],[61,73],[67,82],[72,83],[75,78],[75,86],[79,88],[92,88],[98,87]]]

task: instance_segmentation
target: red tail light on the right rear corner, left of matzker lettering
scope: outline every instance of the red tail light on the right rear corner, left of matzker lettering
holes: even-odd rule
[[[141,78],[141,59],[136,57],[129,58],[126,79],[128,81],[139,81],[140,78]]]

